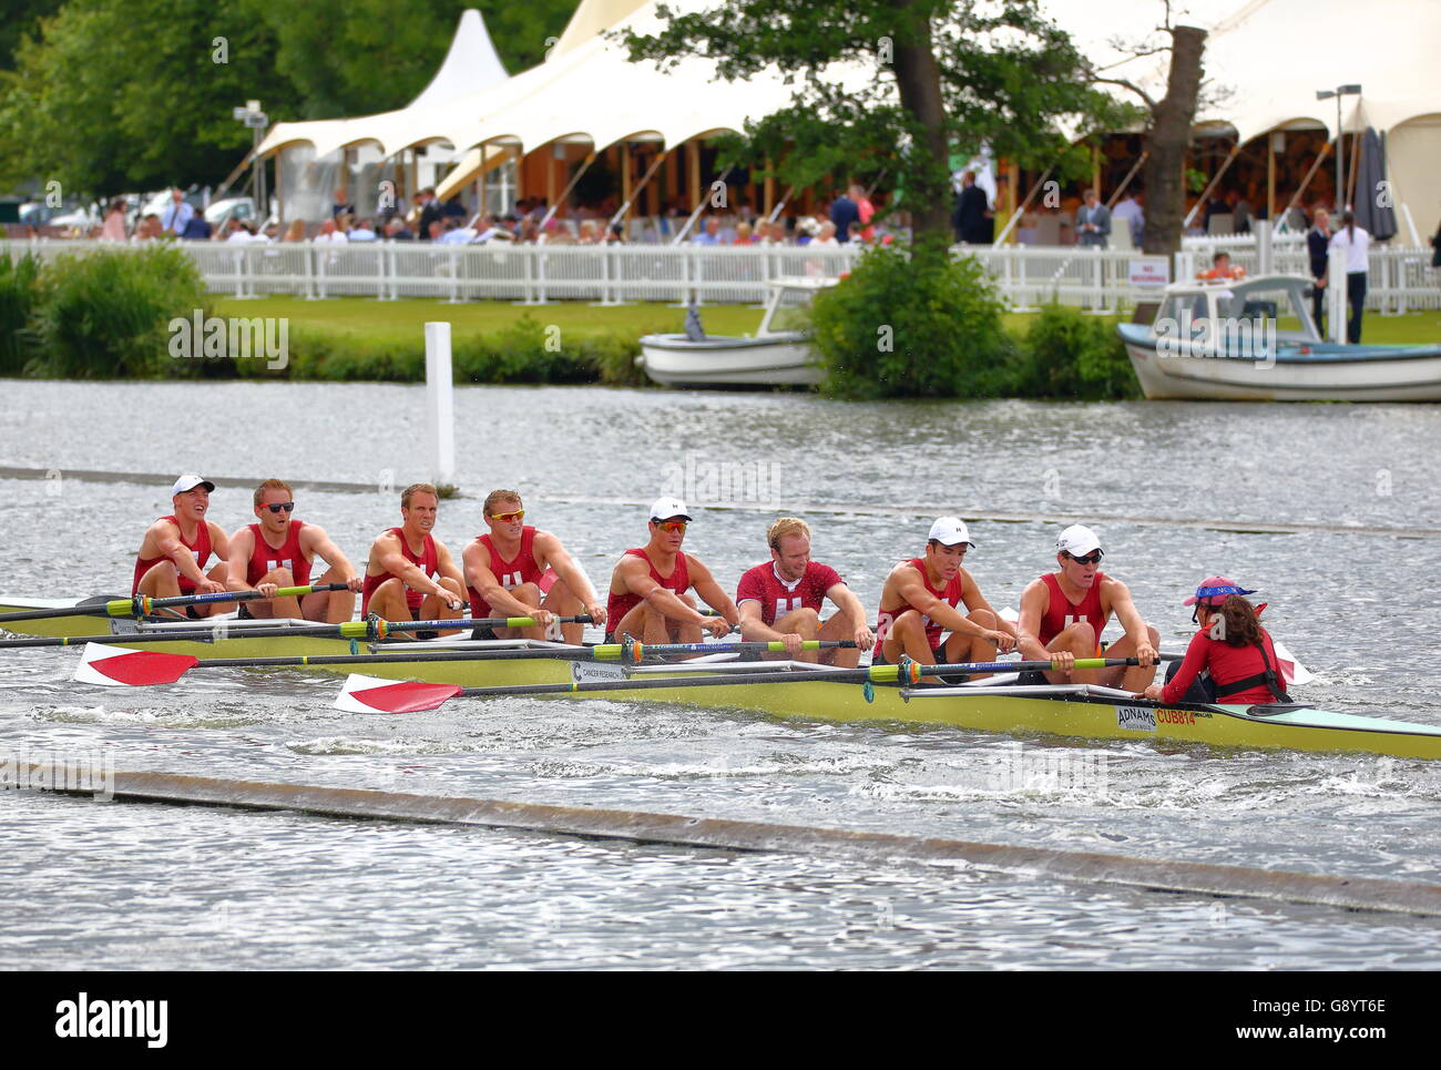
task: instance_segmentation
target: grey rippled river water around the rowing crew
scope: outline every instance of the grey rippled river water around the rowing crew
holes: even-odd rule
[[[354,384],[6,382],[0,545],[12,594],[122,593],[169,486],[73,470],[354,483],[301,493],[353,560],[427,472],[424,391]],[[1441,528],[1441,410],[1185,402],[846,404],[780,394],[465,388],[457,552],[516,487],[597,584],[661,492],[709,499],[686,551],[733,588],[778,512],[875,607],[929,519],[977,522],[996,606],[1105,516],[1107,571],[1164,646],[1210,572],[1261,590],[1327,708],[1441,724],[1422,581]],[[251,519],[220,489],[212,519]],[[808,509],[808,510],[807,510]],[[1045,519],[1043,519],[1045,518]],[[1179,521],[1179,522],[1177,522]],[[1189,523],[1189,522],[1200,523]],[[1206,526],[1215,522],[1218,526]],[[1290,534],[1246,531],[1285,522]],[[1225,529],[1221,529],[1225,528]],[[1357,531],[1363,529],[1363,531]],[[1438,532],[1441,534],[1441,532]],[[72,652],[0,656],[0,751],[101,748],[117,769],[610,806],[1441,881],[1441,763],[1017,741],[614,701],[330,708],[336,679],[193,673],[97,692]],[[1094,756],[1101,783],[1014,783],[1017,748]],[[291,813],[0,793],[0,968],[1437,968],[1441,923],[839,858],[595,844]]]

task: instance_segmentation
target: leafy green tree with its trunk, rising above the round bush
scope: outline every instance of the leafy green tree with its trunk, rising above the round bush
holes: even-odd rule
[[[1039,0],[736,0],[659,12],[659,35],[625,35],[633,58],[706,56],[726,79],[774,65],[793,79],[788,107],[748,124],[728,156],[774,159],[801,187],[886,169],[922,252],[950,244],[953,150],[984,144],[1022,166],[1062,160],[1074,172],[1085,153],[1059,133],[1062,121],[1084,131],[1128,118],[1088,85],[1085,58]],[[827,79],[834,63],[860,76]]]

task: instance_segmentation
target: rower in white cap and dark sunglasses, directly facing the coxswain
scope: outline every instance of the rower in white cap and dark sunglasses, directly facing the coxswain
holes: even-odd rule
[[[1017,646],[1027,660],[1055,662],[1046,671],[1050,684],[1099,684],[1124,691],[1144,691],[1156,678],[1156,645],[1160,635],[1141,620],[1131,591],[1101,571],[1101,539],[1082,523],[1074,523],[1056,539],[1058,571],[1033,580],[1020,596],[1016,622]],[[1105,658],[1136,658],[1128,669],[1076,669],[1076,658],[1099,658],[1101,633],[1111,614],[1125,635],[1105,647]],[[1038,678],[1036,682],[1040,682]]]

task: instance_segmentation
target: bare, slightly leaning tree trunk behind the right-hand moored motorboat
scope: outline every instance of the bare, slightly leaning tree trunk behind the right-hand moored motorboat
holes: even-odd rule
[[[1167,255],[1180,248],[1182,222],[1186,218],[1183,169],[1190,146],[1190,125],[1196,120],[1200,92],[1200,56],[1206,32],[1195,26],[1172,30],[1172,66],[1166,97],[1156,105],[1146,137],[1150,159],[1146,162],[1146,231],[1141,248]]]

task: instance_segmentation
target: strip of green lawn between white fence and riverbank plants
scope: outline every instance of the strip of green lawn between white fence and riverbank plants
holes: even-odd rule
[[[307,301],[303,297],[262,297],[238,301],[222,297],[216,306],[220,316],[285,317],[293,327],[363,335],[370,340],[419,339],[427,320],[448,320],[457,333],[490,335],[522,316],[530,316],[542,326],[553,323],[566,335],[628,333],[638,339],[641,335],[679,332],[686,319],[684,309],[659,303],[599,309],[585,301],[519,306],[509,301],[447,304],[434,299],[376,301],[369,297],[337,297]],[[700,319],[709,335],[754,335],[761,324],[761,309],[745,304],[712,304],[700,310]],[[1035,313],[1007,313],[1006,329],[1020,336],[1033,319]],[[1441,310],[1408,316],[1368,313],[1362,333],[1366,342],[1382,345],[1441,342]]]

